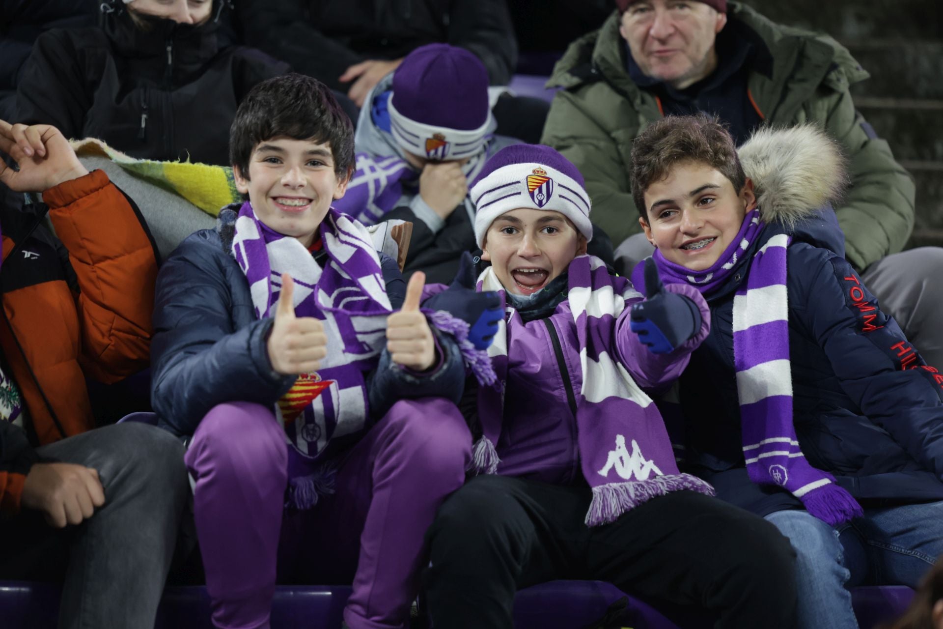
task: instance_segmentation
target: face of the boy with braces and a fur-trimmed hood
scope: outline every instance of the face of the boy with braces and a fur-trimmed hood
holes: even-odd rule
[[[701,162],[674,165],[645,190],[645,237],[666,259],[691,271],[709,269],[736,239],[743,217],[756,207],[753,182],[743,190]]]

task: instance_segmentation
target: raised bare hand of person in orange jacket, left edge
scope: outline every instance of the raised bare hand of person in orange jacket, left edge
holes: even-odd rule
[[[0,152],[12,157],[19,171],[0,160],[0,182],[16,192],[43,192],[89,174],[55,126],[9,124],[0,120]]]

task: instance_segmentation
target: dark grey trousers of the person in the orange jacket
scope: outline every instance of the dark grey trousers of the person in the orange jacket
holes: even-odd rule
[[[38,449],[43,462],[98,471],[105,505],[54,529],[24,510],[0,521],[0,578],[65,578],[62,629],[153,627],[190,500],[183,445],[168,432],[122,423]]]

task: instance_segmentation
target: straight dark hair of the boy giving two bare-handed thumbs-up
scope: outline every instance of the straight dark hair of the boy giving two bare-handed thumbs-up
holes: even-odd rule
[[[339,178],[354,169],[354,125],[334,94],[316,78],[282,74],[249,91],[229,127],[229,161],[248,179],[249,158],[256,146],[279,136],[330,144]]]

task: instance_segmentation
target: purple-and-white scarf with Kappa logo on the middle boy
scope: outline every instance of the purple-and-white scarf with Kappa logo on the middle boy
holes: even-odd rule
[[[616,320],[626,301],[631,304],[641,295],[625,278],[610,275],[598,257],[574,258],[568,273],[568,302],[583,375],[576,396],[577,440],[580,465],[593,494],[587,525],[616,521],[629,509],[670,491],[713,494],[703,480],[678,472],[661,414],[614,357]],[[494,444],[501,436],[504,416],[508,344],[513,346],[514,329],[525,323],[507,306],[505,289],[492,268],[479,277],[478,290],[497,291],[506,313],[488,348],[497,382],[478,389],[483,436],[475,443],[472,461],[477,472],[495,473],[501,462]]]

